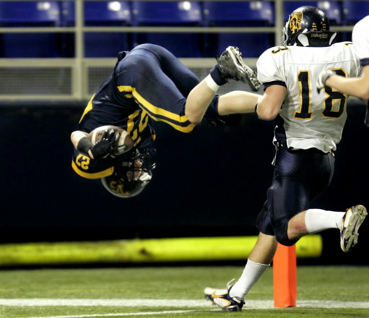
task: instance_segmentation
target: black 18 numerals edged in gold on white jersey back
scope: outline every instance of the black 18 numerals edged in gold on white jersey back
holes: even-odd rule
[[[332,70],[336,71],[338,75],[346,77],[344,70]],[[311,90],[309,71],[300,71],[297,79],[300,83],[300,109],[295,111],[294,118],[311,119],[313,112],[310,112]],[[321,115],[326,118],[339,118],[345,109],[346,95],[330,87],[325,87],[324,92],[327,94],[327,97],[324,99],[324,110],[321,112]]]

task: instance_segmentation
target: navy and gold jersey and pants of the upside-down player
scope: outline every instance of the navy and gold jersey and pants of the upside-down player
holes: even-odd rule
[[[155,140],[154,121],[162,121],[184,133],[196,126],[184,115],[189,92],[200,79],[168,50],[154,44],[142,44],[129,52],[120,52],[113,73],[92,96],[77,130],[90,133],[105,125],[126,130],[134,147],[147,147]],[[218,118],[218,94],[215,94],[206,116]],[[72,167],[85,178],[102,178],[113,173],[123,160],[92,160],[78,153]]]

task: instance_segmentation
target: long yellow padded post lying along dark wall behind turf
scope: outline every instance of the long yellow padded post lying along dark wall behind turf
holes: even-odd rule
[[[186,237],[88,242],[0,244],[0,266],[246,260],[257,236]],[[296,244],[297,258],[317,258],[318,234]]]

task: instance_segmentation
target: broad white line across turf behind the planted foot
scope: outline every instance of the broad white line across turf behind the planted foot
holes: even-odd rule
[[[65,299],[0,298],[0,305],[17,307],[44,306],[111,306],[111,307],[212,307],[210,301],[196,299]],[[297,307],[369,308],[369,301],[298,300]],[[246,300],[244,308],[274,308],[273,300]],[[69,316],[68,316],[69,317]],[[85,317],[85,316],[84,316]]]

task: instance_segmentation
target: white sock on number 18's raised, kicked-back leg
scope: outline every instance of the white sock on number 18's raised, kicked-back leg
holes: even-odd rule
[[[344,215],[345,212],[308,209],[305,214],[306,230],[313,234],[328,228],[339,228],[339,223]]]

